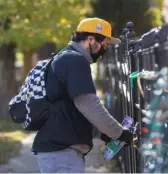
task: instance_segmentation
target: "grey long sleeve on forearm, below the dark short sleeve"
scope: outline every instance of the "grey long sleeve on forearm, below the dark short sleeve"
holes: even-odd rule
[[[123,128],[100,103],[95,94],[83,94],[74,98],[77,109],[100,132],[112,139],[117,139],[122,134]]]

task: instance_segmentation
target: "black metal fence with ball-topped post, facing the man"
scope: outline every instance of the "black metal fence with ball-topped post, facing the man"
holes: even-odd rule
[[[147,155],[142,152],[144,141],[150,139],[148,125],[142,120],[155,98],[153,91],[157,73],[168,67],[168,24],[153,28],[138,40],[135,38],[134,26],[129,22],[121,33],[121,43],[111,46],[108,59],[104,60],[105,105],[118,121],[128,115],[134,123],[139,123],[137,141],[132,147],[122,149],[117,156],[122,172],[163,172],[163,167],[156,170],[156,164],[152,165],[150,155],[147,162]],[[165,124],[163,129],[165,132]]]

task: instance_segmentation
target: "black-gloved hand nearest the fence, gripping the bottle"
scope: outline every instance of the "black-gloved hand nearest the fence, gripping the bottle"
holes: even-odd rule
[[[118,140],[125,142],[127,145],[130,145],[133,141],[133,133],[130,130],[123,130],[121,136]]]

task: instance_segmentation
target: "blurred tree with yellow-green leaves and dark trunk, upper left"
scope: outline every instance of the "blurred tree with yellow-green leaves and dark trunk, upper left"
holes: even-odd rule
[[[8,114],[8,102],[16,94],[15,53],[24,53],[25,77],[32,54],[46,43],[65,46],[88,10],[87,0],[0,1],[0,115]]]

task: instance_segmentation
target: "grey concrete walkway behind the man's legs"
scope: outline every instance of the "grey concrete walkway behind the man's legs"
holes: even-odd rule
[[[36,157],[31,153],[31,145],[35,134],[31,134],[22,141],[20,155],[11,158],[6,165],[0,166],[0,173],[39,173]],[[103,159],[100,152],[101,140],[94,140],[93,150],[86,156],[86,172],[119,172],[114,168],[115,162],[108,162]],[[113,169],[112,169],[113,168]]]

